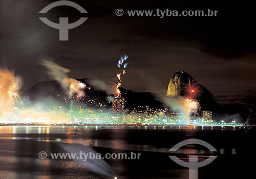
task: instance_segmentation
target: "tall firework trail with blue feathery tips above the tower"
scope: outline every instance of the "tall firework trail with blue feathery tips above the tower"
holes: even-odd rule
[[[126,73],[126,71],[124,70],[127,66],[128,63],[124,63],[127,58],[129,58],[127,55],[124,55],[123,57],[121,57],[118,61],[117,61],[117,66],[118,68],[121,70],[120,73],[116,74],[116,77],[118,79],[118,82],[115,85],[115,91],[116,91],[116,95],[120,96],[120,90],[119,88],[121,87],[121,75],[124,75]],[[123,68],[122,68],[123,67]]]

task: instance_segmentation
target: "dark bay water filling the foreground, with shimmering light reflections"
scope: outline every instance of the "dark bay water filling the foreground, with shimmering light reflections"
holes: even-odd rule
[[[81,129],[84,128],[84,129]],[[74,160],[54,160],[50,153],[66,152],[60,144],[91,146],[105,153],[141,153],[137,160],[105,160],[118,178],[188,178],[188,168],[169,159],[176,155],[218,155],[198,169],[198,178],[255,178],[255,130],[227,127],[117,127],[111,126],[0,126],[0,178],[113,178],[88,171]],[[79,129],[79,130],[77,130]],[[70,132],[77,132],[71,135]],[[61,142],[55,141],[57,138]],[[187,145],[176,153],[168,150],[185,139],[200,139],[218,152]],[[84,149],[87,150],[87,149]],[[38,153],[48,156],[42,160]],[[200,162],[200,161],[199,161]],[[103,170],[103,168],[98,168]]]

